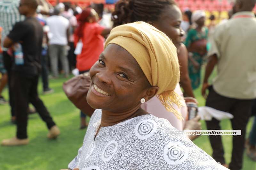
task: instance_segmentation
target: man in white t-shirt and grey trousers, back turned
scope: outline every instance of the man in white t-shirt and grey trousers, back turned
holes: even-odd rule
[[[52,77],[58,78],[58,57],[64,70],[64,77],[68,78],[69,67],[67,58],[67,46],[69,37],[69,21],[59,15],[59,9],[55,8],[53,15],[46,19],[49,26],[49,56],[51,61]]]

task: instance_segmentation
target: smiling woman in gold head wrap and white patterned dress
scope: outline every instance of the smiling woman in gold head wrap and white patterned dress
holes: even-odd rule
[[[96,111],[68,168],[226,169],[183,135],[167,134],[167,120],[141,109],[157,95],[175,112],[170,101],[179,105],[179,75],[176,48],[164,33],[144,22],[114,28],[90,70],[87,101]]]

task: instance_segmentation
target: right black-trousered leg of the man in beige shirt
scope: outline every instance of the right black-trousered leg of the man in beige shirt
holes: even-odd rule
[[[233,136],[232,158],[229,164],[229,169],[231,170],[239,170],[243,166],[246,125],[251,114],[253,101],[236,100],[236,103],[229,112],[234,115],[234,118],[231,119],[232,128],[234,130],[241,130],[241,136]]]

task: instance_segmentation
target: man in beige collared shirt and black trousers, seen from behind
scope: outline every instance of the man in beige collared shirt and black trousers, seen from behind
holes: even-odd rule
[[[246,125],[256,99],[255,3],[256,0],[236,0],[232,17],[215,27],[202,87],[205,97],[209,89],[205,106],[232,114],[232,128],[242,132],[233,137],[231,170],[242,169]],[[218,74],[209,88],[208,78],[215,65]],[[206,125],[211,130],[221,129],[217,119],[206,121]],[[209,138],[213,159],[227,167],[221,136]]]

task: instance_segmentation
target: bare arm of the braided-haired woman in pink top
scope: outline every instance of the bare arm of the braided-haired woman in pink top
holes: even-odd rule
[[[188,75],[188,51],[184,44],[180,46],[180,52],[178,54],[180,63],[180,86],[183,88],[184,92],[189,96],[195,98],[193,89],[191,86],[191,81]]]

